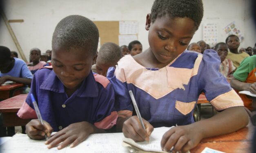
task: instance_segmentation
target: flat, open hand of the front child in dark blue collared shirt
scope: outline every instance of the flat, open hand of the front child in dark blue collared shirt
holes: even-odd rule
[[[57,146],[57,149],[62,149],[68,146],[77,146],[80,142],[84,141],[94,131],[94,126],[89,122],[77,122],[65,127],[61,131],[55,133],[49,140],[45,142],[48,149]]]

